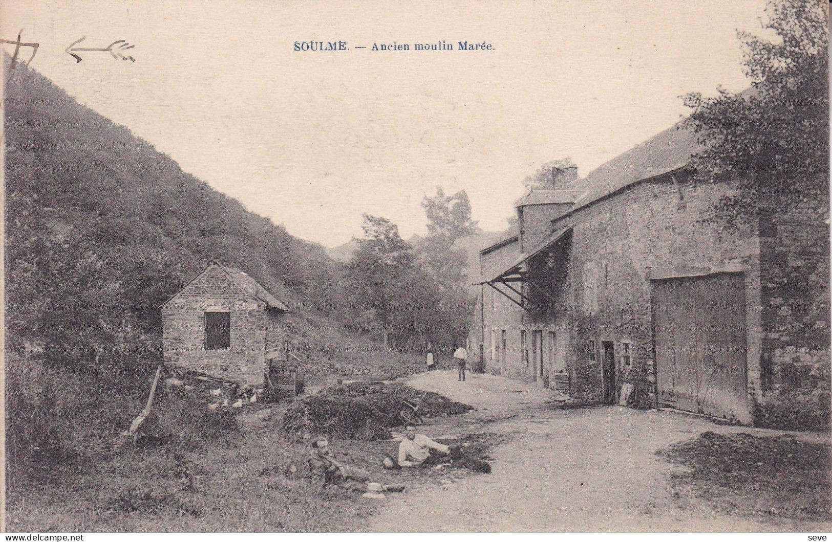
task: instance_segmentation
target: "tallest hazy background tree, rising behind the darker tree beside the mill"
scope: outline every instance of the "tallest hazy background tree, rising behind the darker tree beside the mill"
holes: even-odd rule
[[[422,208],[428,217],[428,236],[419,247],[424,268],[443,283],[461,283],[468,254],[453,245],[478,229],[477,222],[471,219],[468,194],[460,190],[454,195],[445,195],[437,187],[436,195],[423,198]]]

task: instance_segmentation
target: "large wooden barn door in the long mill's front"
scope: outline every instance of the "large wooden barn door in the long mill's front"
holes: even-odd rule
[[[742,274],[666,278],[652,288],[659,404],[747,416]]]

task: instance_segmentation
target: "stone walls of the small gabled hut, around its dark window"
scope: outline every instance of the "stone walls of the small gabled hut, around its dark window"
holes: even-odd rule
[[[230,313],[230,347],[205,349],[205,312]],[[260,386],[265,351],[282,341],[280,316],[212,265],[162,308],[165,361],[235,382]]]

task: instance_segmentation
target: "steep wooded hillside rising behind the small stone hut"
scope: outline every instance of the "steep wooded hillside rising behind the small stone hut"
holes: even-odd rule
[[[109,449],[141,410],[161,361],[159,305],[210,258],[245,270],[289,306],[290,349],[308,384],[421,369],[352,333],[343,264],[323,247],[248,212],[36,71],[18,65],[7,80],[6,412],[15,476]],[[177,439],[207,431],[196,437],[207,442],[229,426],[225,414],[187,397],[171,405],[158,423]]]

